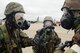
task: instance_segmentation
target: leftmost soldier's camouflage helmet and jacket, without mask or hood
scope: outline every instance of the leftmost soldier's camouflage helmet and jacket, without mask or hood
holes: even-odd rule
[[[11,2],[7,5],[5,15],[12,13],[13,11],[24,12],[21,4]],[[33,45],[33,41],[21,29],[10,29],[6,22],[0,25],[0,53],[22,53],[21,48],[25,48]]]

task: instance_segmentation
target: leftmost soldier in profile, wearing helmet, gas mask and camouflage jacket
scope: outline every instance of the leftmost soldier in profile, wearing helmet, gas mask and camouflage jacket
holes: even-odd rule
[[[10,2],[4,12],[5,23],[0,25],[0,53],[22,53],[21,48],[32,46],[33,41],[22,30],[27,30],[30,24],[23,18],[23,6]]]

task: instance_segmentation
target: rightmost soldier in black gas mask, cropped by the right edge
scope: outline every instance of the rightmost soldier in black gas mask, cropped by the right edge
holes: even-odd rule
[[[61,10],[64,12],[61,26],[74,30],[72,46],[65,53],[80,53],[80,0],[65,0]]]

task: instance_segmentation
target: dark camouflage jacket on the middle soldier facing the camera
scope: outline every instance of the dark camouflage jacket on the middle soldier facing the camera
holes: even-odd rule
[[[46,37],[41,39],[41,36]],[[54,53],[54,49],[61,42],[61,39],[54,30],[50,35],[47,35],[44,30],[41,29],[37,31],[34,42],[36,43],[36,45],[33,46],[34,53]]]

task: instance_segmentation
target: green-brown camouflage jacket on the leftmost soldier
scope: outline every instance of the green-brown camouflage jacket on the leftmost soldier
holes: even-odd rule
[[[33,45],[32,39],[20,29],[10,32],[5,24],[0,25],[0,53],[22,53],[21,48]]]

